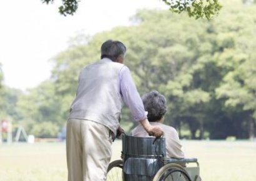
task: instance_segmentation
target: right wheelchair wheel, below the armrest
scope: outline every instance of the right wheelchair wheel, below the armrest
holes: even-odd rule
[[[167,164],[162,167],[153,181],[192,181],[189,174],[178,164]]]

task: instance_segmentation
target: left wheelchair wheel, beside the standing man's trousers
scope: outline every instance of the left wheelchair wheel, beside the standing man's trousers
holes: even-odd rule
[[[122,160],[115,160],[107,168],[107,181],[122,181]]]

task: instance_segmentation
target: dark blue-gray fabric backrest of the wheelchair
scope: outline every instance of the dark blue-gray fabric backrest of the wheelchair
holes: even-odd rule
[[[150,181],[164,164],[165,139],[123,135],[122,155],[124,181]]]

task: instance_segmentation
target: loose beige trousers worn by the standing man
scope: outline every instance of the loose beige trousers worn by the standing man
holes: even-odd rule
[[[66,151],[69,181],[106,180],[111,160],[109,128],[91,120],[67,120]]]

